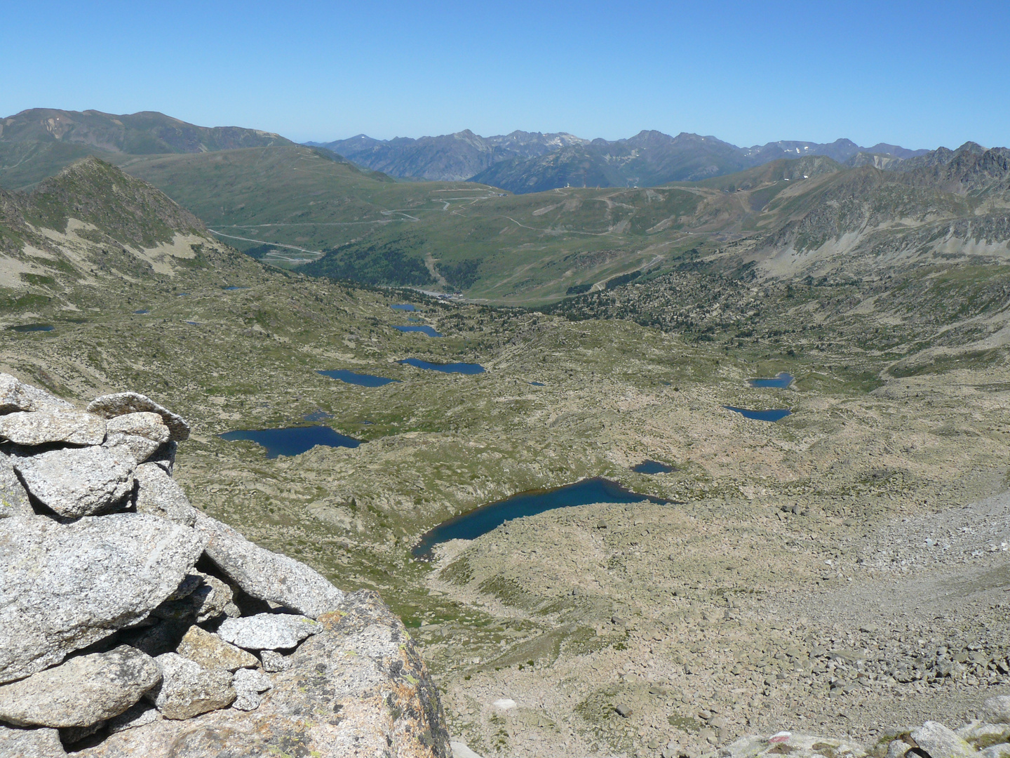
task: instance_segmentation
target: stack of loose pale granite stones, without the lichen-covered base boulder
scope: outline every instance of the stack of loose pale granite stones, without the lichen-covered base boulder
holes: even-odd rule
[[[344,600],[190,504],[189,435],[135,392],[80,410],[0,374],[0,758],[257,709]]]

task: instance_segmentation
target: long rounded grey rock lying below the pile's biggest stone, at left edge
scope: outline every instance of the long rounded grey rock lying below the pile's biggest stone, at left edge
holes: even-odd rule
[[[119,716],[161,678],[154,658],[120,645],[0,686],[0,721],[20,727],[90,727]]]

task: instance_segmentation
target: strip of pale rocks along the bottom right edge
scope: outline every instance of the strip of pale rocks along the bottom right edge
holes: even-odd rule
[[[846,740],[793,735],[780,732],[771,737],[744,737],[721,748],[711,758],[755,758],[790,755],[792,758],[1007,758],[1010,756],[1010,695],[990,697],[982,712],[957,730],[939,722],[894,733],[867,749]],[[664,758],[680,754],[668,745]]]

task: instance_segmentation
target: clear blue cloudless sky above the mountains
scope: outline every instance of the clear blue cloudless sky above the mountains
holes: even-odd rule
[[[298,140],[643,128],[1010,145],[1007,2],[25,2],[0,115],[160,110]]]

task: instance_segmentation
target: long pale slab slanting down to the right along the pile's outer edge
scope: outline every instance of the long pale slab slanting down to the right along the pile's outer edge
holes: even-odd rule
[[[207,556],[252,597],[313,619],[343,599],[343,592],[319,572],[254,545],[231,527],[199,513],[196,529],[207,537]]]

